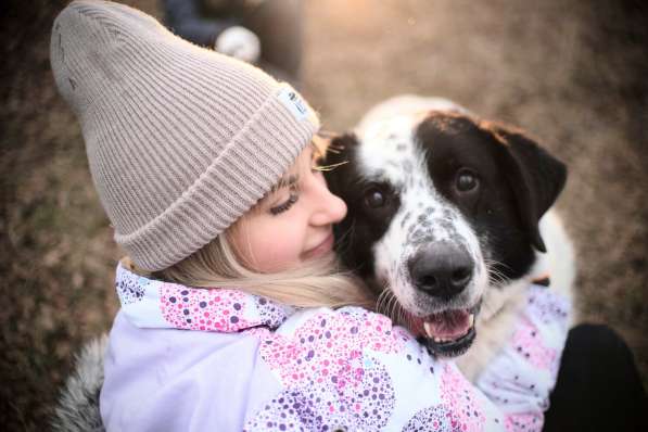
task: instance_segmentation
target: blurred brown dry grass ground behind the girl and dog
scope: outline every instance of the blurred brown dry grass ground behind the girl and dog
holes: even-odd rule
[[[160,16],[154,0],[127,1]],[[64,0],[0,5],[0,424],[41,430],[79,344],[110,328],[119,252],[56,96]],[[524,127],[570,166],[558,206],[583,320],[648,377],[648,11],[640,1],[309,0],[304,93],[329,129],[380,100],[443,96]]]

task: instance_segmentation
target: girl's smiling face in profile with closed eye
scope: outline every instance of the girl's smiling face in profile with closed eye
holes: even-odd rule
[[[346,215],[346,204],[331,194],[307,147],[278,189],[245,214],[229,240],[241,264],[258,272],[300,267],[331,252],[333,224]]]

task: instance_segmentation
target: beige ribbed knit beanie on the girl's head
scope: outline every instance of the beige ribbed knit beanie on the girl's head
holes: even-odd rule
[[[54,22],[50,55],[115,240],[145,270],[227,229],[319,128],[288,84],[123,4],[72,2]]]

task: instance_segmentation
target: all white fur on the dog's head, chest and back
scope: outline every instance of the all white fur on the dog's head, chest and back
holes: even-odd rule
[[[457,363],[466,377],[475,380],[485,365],[511,335],[525,292],[532,280],[550,275],[552,290],[573,297],[574,249],[562,221],[554,209],[542,218],[539,228],[547,253],[536,253],[531,271],[505,287],[494,288],[487,277],[487,239],[479,239],[460,212],[434,189],[425,160],[417,147],[414,131],[430,110],[467,111],[440,98],[404,96],[373,107],[355,129],[359,161],[367,176],[384,178],[401,190],[401,208],[384,237],[374,245],[376,274],[385,280],[401,304],[410,312],[429,313],[431,300],[410,283],[404,263],[422,243],[445,240],[467,250],[475,264],[475,277],[468,289],[445,307],[469,307],[482,298],[475,328],[478,336]],[[443,125],[441,125],[443,126]],[[424,305],[424,309],[421,306]],[[571,317],[571,321],[574,321]]]

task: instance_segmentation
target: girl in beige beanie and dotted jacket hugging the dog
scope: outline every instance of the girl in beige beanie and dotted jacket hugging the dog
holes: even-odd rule
[[[480,379],[490,398],[357,307],[372,298],[331,256],[346,207],[292,88],[111,2],[71,3],[51,61],[129,256],[109,431],[541,429],[568,305],[533,291],[521,336]]]

